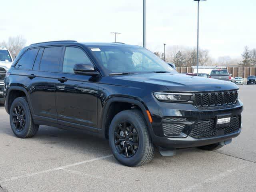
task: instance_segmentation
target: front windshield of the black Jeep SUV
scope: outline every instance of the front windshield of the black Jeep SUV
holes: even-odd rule
[[[155,54],[140,47],[97,46],[90,48],[92,54],[109,74],[114,73],[178,73]]]

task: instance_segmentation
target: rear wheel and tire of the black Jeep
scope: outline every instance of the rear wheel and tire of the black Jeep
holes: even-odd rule
[[[30,138],[37,132],[39,125],[34,124],[28,102],[24,97],[18,97],[10,108],[10,124],[13,133],[18,138]]]

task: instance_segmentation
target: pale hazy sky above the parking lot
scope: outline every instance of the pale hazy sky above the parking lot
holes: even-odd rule
[[[237,58],[256,48],[256,0],[200,2],[200,47],[214,58]],[[49,40],[142,45],[142,0],[6,0],[1,2],[0,41],[22,35],[28,44]],[[146,41],[151,51],[196,46],[197,2],[146,0]]]

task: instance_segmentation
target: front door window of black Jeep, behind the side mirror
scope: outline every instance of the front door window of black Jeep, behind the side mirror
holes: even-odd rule
[[[75,47],[66,47],[62,71],[74,73],[74,65],[82,63],[92,65],[88,56],[81,49]]]

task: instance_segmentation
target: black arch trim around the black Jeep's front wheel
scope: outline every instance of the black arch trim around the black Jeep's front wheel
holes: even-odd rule
[[[108,114],[111,110],[111,106],[114,103],[126,103],[128,105],[131,105],[134,108],[139,109],[142,112],[142,115],[144,116],[144,119],[146,120],[146,124],[148,127],[148,132],[150,134],[150,136],[152,137],[153,134],[153,130],[152,130],[152,124],[150,123],[150,120],[148,119],[148,114],[147,114],[147,106],[144,104],[144,102],[140,101],[140,100],[136,100],[136,99],[131,99],[131,98],[121,98],[121,97],[114,97],[114,98],[110,98],[104,108],[103,108],[103,112],[102,112],[102,118],[101,118],[101,124],[99,126],[99,128],[102,130],[101,131],[101,135],[103,138],[108,139],[108,129],[109,129],[109,125],[110,122],[112,121],[113,117],[110,117],[110,119],[108,118]],[[130,108],[131,109],[131,108]],[[127,109],[125,109],[127,110]],[[122,110],[120,110],[122,111]],[[118,111],[118,112],[120,112]]]

